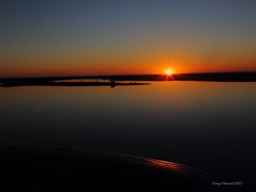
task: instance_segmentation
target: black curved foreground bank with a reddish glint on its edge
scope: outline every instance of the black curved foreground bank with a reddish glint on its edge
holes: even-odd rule
[[[182,164],[47,143],[0,148],[7,191],[195,191],[211,176]],[[6,191],[6,190],[4,190]]]

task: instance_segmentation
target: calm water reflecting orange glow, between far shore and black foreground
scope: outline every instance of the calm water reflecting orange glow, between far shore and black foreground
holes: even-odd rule
[[[0,88],[0,143],[74,147],[195,166],[222,191],[253,188],[256,83]]]

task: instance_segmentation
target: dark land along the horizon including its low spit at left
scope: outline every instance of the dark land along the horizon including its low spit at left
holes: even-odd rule
[[[112,82],[61,82],[54,81],[71,79],[102,79]],[[216,72],[173,74],[170,76],[159,74],[147,75],[113,75],[113,76],[67,76],[67,77],[26,77],[26,78],[2,78],[0,86],[118,86],[139,85],[141,83],[115,83],[113,81],[218,81],[218,82],[255,82],[256,72]],[[145,83],[143,83],[145,84]]]

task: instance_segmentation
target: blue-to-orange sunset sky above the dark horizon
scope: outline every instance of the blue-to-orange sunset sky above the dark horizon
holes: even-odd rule
[[[255,0],[2,0],[0,77],[256,70]]]

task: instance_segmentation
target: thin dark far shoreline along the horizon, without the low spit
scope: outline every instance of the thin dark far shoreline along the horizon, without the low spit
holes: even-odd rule
[[[63,76],[63,77],[19,77],[0,78],[0,83],[49,83],[51,81],[73,79],[102,79],[109,81],[219,81],[219,82],[255,82],[256,72],[214,72],[191,74],[137,74],[111,76]]]

